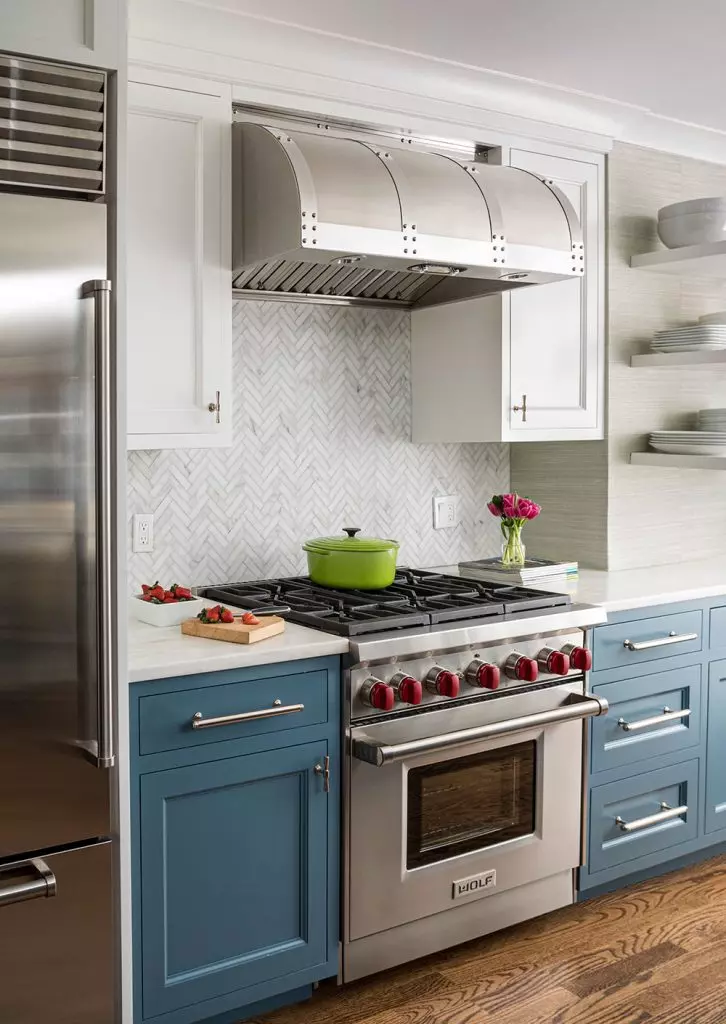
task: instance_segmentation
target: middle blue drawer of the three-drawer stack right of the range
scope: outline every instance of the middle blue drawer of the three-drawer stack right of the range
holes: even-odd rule
[[[700,665],[603,683],[594,690],[607,698],[610,710],[593,719],[593,773],[700,741]]]

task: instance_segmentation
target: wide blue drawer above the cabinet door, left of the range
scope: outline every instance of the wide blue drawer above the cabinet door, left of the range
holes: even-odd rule
[[[141,697],[139,754],[246,739],[327,722],[328,680],[325,670],[316,670]],[[195,722],[237,715],[249,717],[194,727]]]

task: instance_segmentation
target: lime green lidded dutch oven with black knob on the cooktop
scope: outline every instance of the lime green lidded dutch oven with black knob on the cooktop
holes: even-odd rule
[[[318,537],[306,541],[307,570],[313,583],[345,590],[381,590],[395,575],[397,541],[356,537],[358,527],[345,526],[347,537]]]

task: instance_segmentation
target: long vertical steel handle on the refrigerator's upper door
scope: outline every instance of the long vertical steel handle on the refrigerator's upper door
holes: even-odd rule
[[[113,768],[116,628],[114,594],[114,477],[116,416],[113,390],[111,282],[86,281],[81,298],[93,299],[95,358],[96,580],[98,615],[98,768]]]

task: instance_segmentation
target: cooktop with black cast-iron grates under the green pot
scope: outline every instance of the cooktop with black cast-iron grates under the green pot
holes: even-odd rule
[[[570,604],[567,594],[507,587],[430,572],[396,571],[384,590],[334,590],[309,577],[256,580],[204,587],[202,597],[340,636],[432,626],[487,615],[537,611]]]

